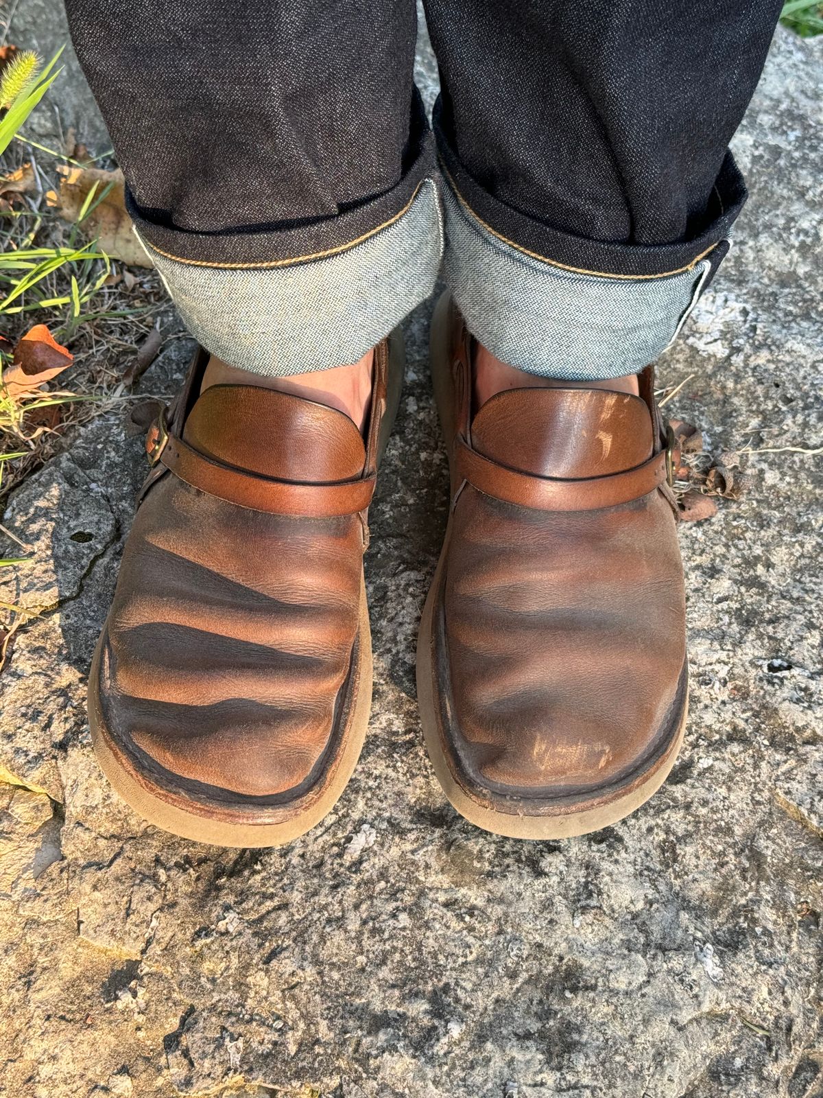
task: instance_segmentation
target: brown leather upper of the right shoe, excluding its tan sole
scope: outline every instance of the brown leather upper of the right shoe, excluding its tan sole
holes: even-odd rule
[[[452,338],[436,632],[451,765],[488,795],[594,796],[652,763],[684,701],[683,571],[651,370],[641,396],[519,389],[474,414],[456,311]]]

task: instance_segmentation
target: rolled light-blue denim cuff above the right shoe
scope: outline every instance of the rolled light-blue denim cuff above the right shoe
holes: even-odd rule
[[[717,188],[725,212],[699,238],[659,246],[586,240],[488,194],[442,138],[440,153],[443,278],[469,330],[501,361],[570,381],[618,378],[655,361],[728,253],[746,197],[729,155]]]

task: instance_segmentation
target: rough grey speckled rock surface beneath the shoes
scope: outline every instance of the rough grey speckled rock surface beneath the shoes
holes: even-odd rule
[[[823,440],[821,47],[778,33],[735,141],[753,192],[737,243],[662,363],[688,379],[672,411],[746,486],[681,529],[687,742],[620,825],[488,836],[425,757],[415,631],[446,504],[430,306],[408,322],[373,511],[370,736],[337,808],[285,849],[167,836],[94,763],[86,675],[143,475],[120,415],[16,491],[3,522],[36,563],[0,598],[42,615],[0,676],[0,1093],[823,1093],[821,459],[788,449]],[[430,93],[429,55],[420,71]],[[170,344],[144,390],[171,392],[185,351]]]

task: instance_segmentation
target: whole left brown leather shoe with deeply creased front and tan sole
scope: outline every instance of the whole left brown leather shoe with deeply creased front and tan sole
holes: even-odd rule
[[[226,847],[317,824],[357,763],[372,656],[368,508],[397,408],[403,338],[374,356],[361,436],[341,412],[250,385],[201,394],[199,350],[151,425],[89,719],[145,819]]]

